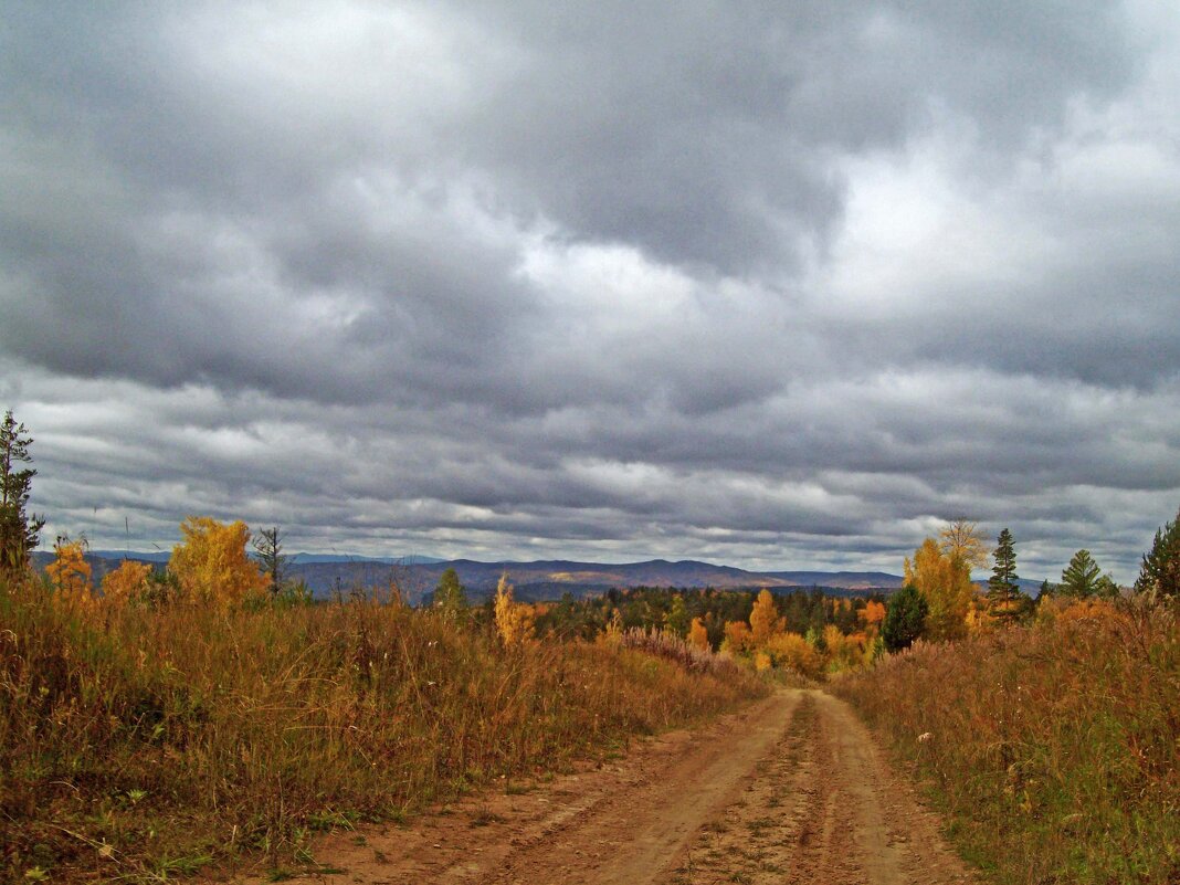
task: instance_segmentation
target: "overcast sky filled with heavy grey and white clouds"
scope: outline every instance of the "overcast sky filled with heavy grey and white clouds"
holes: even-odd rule
[[[1129,582],[1180,506],[1180,13],[6,2],[46,539]]]

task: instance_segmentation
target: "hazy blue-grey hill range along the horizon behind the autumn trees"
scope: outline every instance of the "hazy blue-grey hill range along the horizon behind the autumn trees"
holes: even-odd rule
[[[44,568],[52,553],[37,552],[34,560]],[[165,552],[125,552],[91,550],[87,559],[100,578],[130,558],[162,565]],[[611,588],[677,586],[738,590],[769,588],[774,592],[822,588],[830,594],[859,595],[891,592],[902,586],[902,576],[884,571],[747,571],[732,565],[682,559],[650,559],[641,563],[584,563],[569,559],[537,562],[485,563],[474,559],[439,559],[427,556],[362,557],[340,553],[294,553],[287,562],[287,573],[302,579],[317,597],[356,589],[387,588],[396,584],[402,596],[417,604],[434,590],[446,569],[454,569],[472,599],[492,595],[500,575],[507,572],[522,599],[557,599],[565,594],[575,597],[602,594]],[[977,584],[982,582],[976,582]],[[1022,579],[1021,586],[1035,595],[1038,581]]]

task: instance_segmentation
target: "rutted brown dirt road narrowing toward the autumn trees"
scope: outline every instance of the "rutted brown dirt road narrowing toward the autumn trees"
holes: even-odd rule
[[[316,850],[341,883],[975,881],[841,701],[782,690],[549,784]]]

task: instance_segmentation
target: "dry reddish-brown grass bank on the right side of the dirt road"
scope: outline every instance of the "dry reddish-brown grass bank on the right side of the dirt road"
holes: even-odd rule
[[[1032,627],[833,680],[996,881],[1180,881],[1174,604],[1045,603]]]

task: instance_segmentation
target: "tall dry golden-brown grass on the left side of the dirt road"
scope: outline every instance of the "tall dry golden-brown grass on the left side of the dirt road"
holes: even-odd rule
[[[636,649],[504,648],[372,599],[78,607],[0,584],[0,880],[307,864],[319,831],[402,820],[766,690]]]

